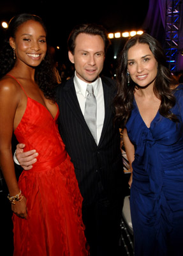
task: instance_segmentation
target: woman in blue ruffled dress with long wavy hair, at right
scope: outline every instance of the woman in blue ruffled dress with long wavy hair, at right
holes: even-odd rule
[[[126,42],[114,104],[133,171],[135,256],[183,255],[183,84],[172,79],[155,38]]]

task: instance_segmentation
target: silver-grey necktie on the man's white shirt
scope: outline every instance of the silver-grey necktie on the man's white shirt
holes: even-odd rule
[[[87,84],[87,99],[85,102],[84,118],[87,123],[94,140],[97,141],[97,129],[96,129],[96,97],[94,96],[94,90],[92,84]]]

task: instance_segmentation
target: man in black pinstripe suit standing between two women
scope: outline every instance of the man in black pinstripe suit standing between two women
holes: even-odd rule
[[[57,88],[59,131],[75,166],[84,198],[82,216],[91,256],[119,253],[124,172],[119,129],[113,125],[115,81],[99,77],[109,44],[103,27],[76,26],[68,39],[68,54],[75,65],[75,76]],[[89,83],[92,83],[97,102],[97,141],[84,119]],[[29,157],[27,164],[20,156],[17,158],[25,168],[33,164],[34,156]]]

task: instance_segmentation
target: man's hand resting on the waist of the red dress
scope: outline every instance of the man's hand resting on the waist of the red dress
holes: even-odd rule
[[[25,144],[18,144],[16,149],[16,157],[22,168],[24,170],[31,170],[33,168],[34,163],[36,163],[38,156],[38,152],[36,150],[30,150],[27,152],[24,152]]]

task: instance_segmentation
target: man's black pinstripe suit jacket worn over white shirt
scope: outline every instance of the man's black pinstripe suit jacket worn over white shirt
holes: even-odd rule
[[[119,130],[113,125],[112,99],[115,82],[102,77],[105,120],[96,145],[80,109],[73,77],[57,88],[59,132],[75,166],[84,205],[94,202],[98,189],[110,200],[122,193],[122,156]]]

